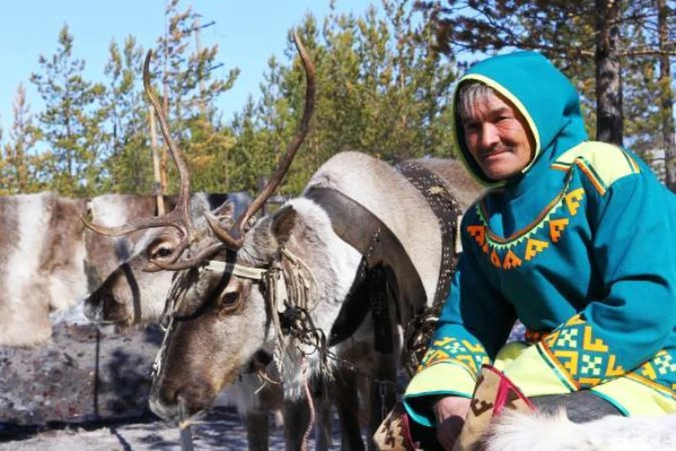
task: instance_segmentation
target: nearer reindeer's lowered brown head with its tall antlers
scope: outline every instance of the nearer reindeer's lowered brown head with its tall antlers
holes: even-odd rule
[[[157,113],[161,130],[180,174],[180,193],[173,211],[144,218],[120,228],[89,228],[108,235],[142,228],[167,228],[146,247],[145,271],[172,270],[173,283],[165,304],[167,333],[151,389],[151,409],[165,419],[181,419],[208,407],[230,383],[242,365],[265,345],[270,333],[268,284],[261,277],[271,270],[289,233],[296,226],[293,209],[281,209],[254,225],[253,214],[281,183],[308,132],[315,87],[314,67],[299,38],[294,42],[306,70],[306,104],[296,136],[280,165],[253,202],[236,221],[224,223],[206,213],[207,225],[196,224],[189,211],[189,177],[182,152],[170,140],[166,117],[149,88],[146,94]],[[275,268],[277,270],[277,268]]]

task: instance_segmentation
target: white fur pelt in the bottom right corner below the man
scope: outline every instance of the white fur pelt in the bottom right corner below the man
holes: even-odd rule
[[[572,423],[557,414],[505,412],[487,436],[486,451],[668,451],[676,449],[676,415],[606,416]]]

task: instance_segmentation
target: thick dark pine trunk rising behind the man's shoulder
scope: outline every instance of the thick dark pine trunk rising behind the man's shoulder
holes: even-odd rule
[[[622,145],[621,0],[596,2],[596,140]]]

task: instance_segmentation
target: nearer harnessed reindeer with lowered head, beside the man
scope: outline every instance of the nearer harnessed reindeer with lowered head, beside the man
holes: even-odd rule
[[[156,242],[146,268],[177,271],[151,390],[156,414],[178,420],[206,409],[263,349],[275,356],[285,398],[309,399],[313,382],[327,380],[349,393],[334,397],[342,445],[363,449],[356,390],[344,389],[353,388],[358,375],[368,375],[375,431],[396,397],[402,326],[448,289],[454,225],[464,206],[457,193],[473,190],[464,196],[472,199],[478,190],[453,161],[405,161],[393,168],[344,152],[315,173],[301,197],[254,221],[308,130],[313,68],[296,46],[308,78],[299,132],[268,185],[237,221],[226,224],[206,212],[211,233],[194,226],[185,213],[187,171],[180,149],[171,144],[182,180],[179,213],[99,230],[173,228],[165,237],[171,250],[158,252],[165,246]],[[158,116],[164,130],[165,119]],[[449,217],[438,216],[442,211]],[[364,361],[374,348],[377,357]]]

